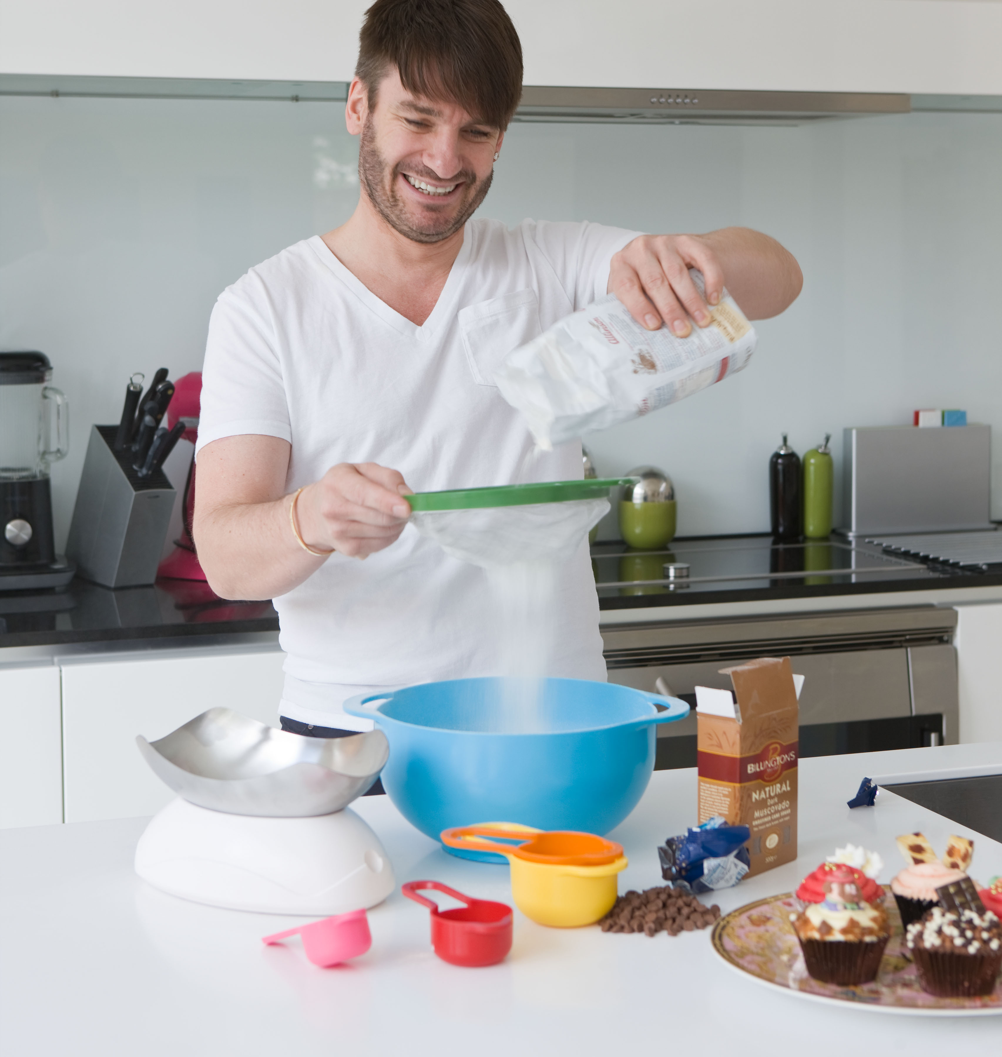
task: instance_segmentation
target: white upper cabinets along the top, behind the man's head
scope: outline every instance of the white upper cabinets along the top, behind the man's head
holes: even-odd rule
[[[0,73],[349,80],[370,0],[0,0]],[[1002,94],[1002,4],[507,0],[525,84]]]

